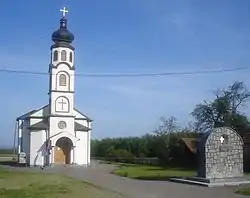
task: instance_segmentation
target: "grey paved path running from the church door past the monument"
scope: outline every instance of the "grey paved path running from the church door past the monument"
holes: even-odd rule
[[[110,174],[114,166],[96,165],[89,168],[55,166],[42,172],[53,172],[84,180],[117,191],[126,198],[242,198],[229,187],[208,188],[167,181],[140,181]],[[22,168],[22,170],[41,171]]]

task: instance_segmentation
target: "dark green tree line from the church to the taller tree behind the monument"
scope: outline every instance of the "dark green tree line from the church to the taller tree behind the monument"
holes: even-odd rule
[[[199,138],[214,127],[227,126],[241,136],[250,131],[249,119],[244,114],[250,92],[243,82],[217,89],[211,101],[197,104],[191,112],[194,122],[188,127],[177,125],[174,117],[161,118],[160,126],[140,137],[105,138],[92,140],[91,155],[109,160],[157,158],[163,165],[196,166],[196,156],[187,151],[182,138]]]

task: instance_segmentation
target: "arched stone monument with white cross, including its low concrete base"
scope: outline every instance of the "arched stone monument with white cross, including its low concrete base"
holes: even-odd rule
[[[197,176],[171,180],[204,186],[250,183],[250,179],[243,174],[243,146],[241,136],[233,129],[214,128],[198,141]]]

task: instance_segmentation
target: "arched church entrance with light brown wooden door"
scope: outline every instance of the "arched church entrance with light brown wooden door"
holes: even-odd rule
[[[54,148],[54,163],[55,164],[70,164],[71,150],[73,143],[67,137],[61,137],[57,140]]]

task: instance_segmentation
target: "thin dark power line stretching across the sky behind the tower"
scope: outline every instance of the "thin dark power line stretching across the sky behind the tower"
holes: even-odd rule
[[[160,73],[134,73],[134,74],[118,74],[118,73],[107,73],[107,74],[80,74],[76,73],[75,76],[80,77],[107,77],[107,78],[117,78],[117,77],[153,77],[153,76],[170,76],[170,75],[198,75],[198,74],[212,74],[212,73],[226,73],[226,72],[236,72],[249,70],[250,67],[238,67],[232,69],[216,69],[216,70],[196,70],[196,71],[182,71],[182,72],[160,72]],[[49,75],[47,72],[36,72],[28,70],[8,70],[0,69],[0,73],[9,73],[9,74],[29,74],[29,75]]]

